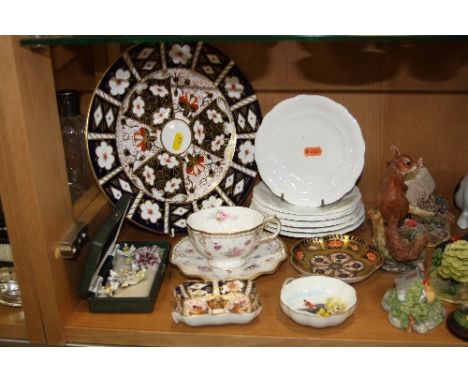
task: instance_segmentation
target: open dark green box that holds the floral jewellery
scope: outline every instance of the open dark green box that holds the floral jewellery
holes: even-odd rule
[[[170,243],[168,241],[116,241],[131,200],[131,196],[128,194],[122,196],[91,243],[87,254],[79,294],[88,299],[91,312],[144,313],[153,311],[166,273]],[[155,271],[148,272],[151,273],[151,277],[145,278],[140,284],[131,285],[125,290],[118,291],[120,295],[99,296],[96,291],[103,281],[108,279],[110,269],[116,262],[122,262],[122,260],[117,260],[115,248],[119,244],[123,246],[124,243],[128,247],[133,245],[136,249],[158,246],[160,248],[160,263]],[[135,293],[135,291],[137,292]]]

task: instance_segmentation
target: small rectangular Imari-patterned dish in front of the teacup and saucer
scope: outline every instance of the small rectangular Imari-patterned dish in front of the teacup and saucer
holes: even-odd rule
[[[248,280],[186,281],[174,295],[172,318],[189,326],[246,324],[262,310],[257,285]]]

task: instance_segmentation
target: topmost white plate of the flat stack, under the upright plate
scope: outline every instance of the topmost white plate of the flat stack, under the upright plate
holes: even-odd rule
[[[335,203],[323,207],[296,206],[274,195],[265,183],[258,183],[253,190],[252,201],[271,213],[284,215],[290,220],[334,219],[347,215],[362,202],[358,187],[344,195]]]

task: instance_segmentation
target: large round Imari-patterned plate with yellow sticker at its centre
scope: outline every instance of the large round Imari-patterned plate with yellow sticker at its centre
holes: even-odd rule
[[[127,218],[185,232],[201,208],[240,205],[257,175],[261,122],[252,86],[219,50],[199,43],[130,48],[99,82],[87,119],[89,159],[105,195],[134,195]]]

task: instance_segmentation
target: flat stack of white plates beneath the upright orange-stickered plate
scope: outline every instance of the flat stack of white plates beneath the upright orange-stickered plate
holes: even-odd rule
[[[276,215],[281,221],[280,234],[299,238],[344,234],[358,228],[365,219],[361,193],[356,186],[335,203],[300,207],[285,202],[260,182],[254,188],[250,208],[265,216]],[[266,227],[268,231],[274,228],[274,225]]]

